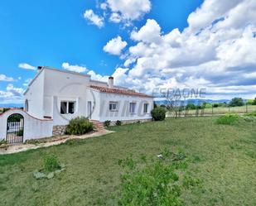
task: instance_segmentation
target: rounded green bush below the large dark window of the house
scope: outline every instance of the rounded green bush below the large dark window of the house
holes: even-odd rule
[[[84,135],[94,129],[93,123],[85,117],[75,117],[70,120],[69,125],[65,129],[68,135]]]

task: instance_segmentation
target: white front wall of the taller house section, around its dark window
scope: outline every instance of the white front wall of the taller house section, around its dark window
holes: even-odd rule
[[[74,117],[89,117],[88,102],[92,103],[92,109],[95,105],[94,94],[87,88],[91,84],[89,79],[89,76],[83,74],[45,69],[44,115],[53,118],[54,126],[66,125]],[[97,96],[97,92],[94,93]],[[75,113],[60,114],[61,101],[75,102]],[[96,110],[98,111],[99,108]],[[92,113],[92,119],[99,119],[95,116],[96,113]]]

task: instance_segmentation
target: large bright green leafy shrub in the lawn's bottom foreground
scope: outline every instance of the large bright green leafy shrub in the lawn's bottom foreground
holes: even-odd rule
[[[118,163],[127,169],[121,175],[118,205],[183,205],[179,176],[171,165],[154,160],[141,168],[132,158]]]

